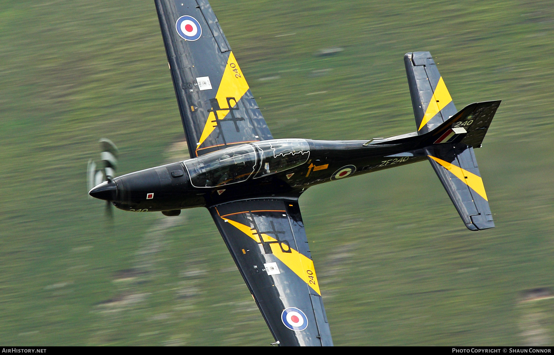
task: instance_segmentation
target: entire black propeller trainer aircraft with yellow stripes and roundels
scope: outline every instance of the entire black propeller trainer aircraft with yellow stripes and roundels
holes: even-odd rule
[[[404,55],[416,132],[273,139],[208,1],[155,3],[192,158],[106,172],[89,194],[131,212],[208,208],[276,344],[332,345],[298,204],[310,186],[427,160],[466,227],[494,227],[474,148],[500,101],[458,112],[429,52]],[[112,168],[115,148],[103,144]]]

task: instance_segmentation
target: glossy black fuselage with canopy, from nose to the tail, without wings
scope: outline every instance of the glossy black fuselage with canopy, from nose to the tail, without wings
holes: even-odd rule
[[[268,195],[298,198],[316,184],[425,160],[406,153],[417,139],[412,133],[393,138],[370,144],[296,138],[246,143],[114,178],[104,183],[110,193],[99,198],[131,212],[177,211]]]

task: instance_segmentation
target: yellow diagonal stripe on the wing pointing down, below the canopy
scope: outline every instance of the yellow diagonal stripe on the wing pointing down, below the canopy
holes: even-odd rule
[[[230,223],[238,230],[242,231],[244,234],[248,235],[250,238],[254,239],[256,243],[260,243],[258,231],[252,230],[247,225],[235,222],[234,220],[223,217],[221,218],[226,220],[227,223]],[[277,241],[277,239],[263,233],[261,234],[261,238],[263,238],[264,241]],[[273,255],[275,255],[277,259],[281,260],[283,264],[289,267],[290,270],[293,270],[293,272],[298,275],[300,279],[304,280],[304,282],[306,282],[306,284],[308,284],[312,289],[314,289],[318,295],[321,295],[319,282],[317,282],[317,276],[315,274],[314,261],[293,248],[290,248],[291,253],[283,253],[283,250],[281,250],[278,243],[271,243],[270,245],[271,251],[273,251]],[[314,277],[314,279],[312,280],[310,276]]]

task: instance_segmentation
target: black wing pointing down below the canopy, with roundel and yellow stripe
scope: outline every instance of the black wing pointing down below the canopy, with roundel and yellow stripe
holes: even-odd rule
[[[275,340],[332,346],[297,201],[243,200],[209,210]]]

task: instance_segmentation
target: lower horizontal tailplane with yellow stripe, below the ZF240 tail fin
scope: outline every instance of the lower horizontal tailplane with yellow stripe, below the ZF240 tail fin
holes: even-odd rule
[[[424,150],[465,226],[470,230],[494,228],[473,147],[445,143]]]

